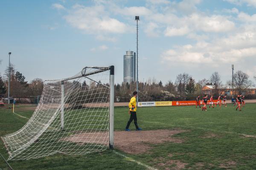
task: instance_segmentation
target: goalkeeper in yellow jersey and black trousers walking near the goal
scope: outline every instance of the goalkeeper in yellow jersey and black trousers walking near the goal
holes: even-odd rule
[[[134,91],[133,92],[133,97],[131,98],[130,102],[129,102],[129,113],[130,113],[130,119],[129,121],[127,122],[127,125],[125,127],[125,131],[131,131],[129,129],[129,126],[131,124],[131,122],[134,120],[134,125],[136,127],[136,130],[142,130],[142,128],[140,128],[138,126],[138,123],[137,123],[137,114],[136,114],[136,111],[137,111],[137,107],[136,107],[136,97],[137,97],[137,94],[138,92],[137,91]]]

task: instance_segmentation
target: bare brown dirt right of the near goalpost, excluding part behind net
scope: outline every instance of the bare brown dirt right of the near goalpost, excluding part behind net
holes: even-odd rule
[[[139,154],[150,149],[149,144],[163,142],[182,143],[178,138],[172,137],[184,130],[142,130],[142,131],[115,131],[115,147],[125,153]]]

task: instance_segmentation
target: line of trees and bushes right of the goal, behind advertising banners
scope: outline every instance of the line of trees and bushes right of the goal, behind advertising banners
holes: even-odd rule
[[[256,79],[256,77],[254,77]],[[253,82],[249,79],[249,75],[243,71],[236,71],[233,77],[234,94],[244,93],[247,99],[256,99],[255,94],[249,92],[249,88],[253,87]],[[205,85],[212,85],[212,93],[217,98],[221,93],[221,89],[232,89],[232,79],[226,83],[221,81],[218,72],[213,72],[209,79],[201,79],[195,82],[195,79],[187,73],[181,73],[176,76],[175,82],[168,81],[166,84],[160,80],[149,78],[146,82],[139,82],[139,101],[174,101],[174,100],[195,100],[196,96],[203,96],[205,91],[202,88]],[[136,82],[116,84],[115,96],[119,102],[128,102],[132,91],[136,90]],[[227,96],[227,98],[230,98]]]

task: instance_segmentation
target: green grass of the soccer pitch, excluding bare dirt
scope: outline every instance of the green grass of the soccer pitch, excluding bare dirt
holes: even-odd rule
[[[16,113],[29,118],[32,105],[17,105]],[[28,161],[9,161],[14,170],[99,170],[99,169],[256,169],[256,104],[247,104],[242,111],[233,105],[201,111],[195,106],[145,107],[137,111],[138,123],[143,130],[185,130],[173,137],[183,142],[148,143],[145,153],[119,156],[112,150],[85,156],[53,156]],[[127,108],[115,108],[115,130],[124,130],[129,115]],[[0,136],[20,129],[28,119],[0,108]],[[135,130],[131,123],[131,130]],[[124,132],[130,133],[130,132]],[[132,145],[132,143],[131,143]],[[8,158],[3,142],[0,153]],[[142,164],[132,161],[136,160]],[[0,159],[0,168],[7,170]]]

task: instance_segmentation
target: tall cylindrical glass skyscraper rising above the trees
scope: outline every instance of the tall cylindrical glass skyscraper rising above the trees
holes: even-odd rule
[[[124,82],[135,82],[136,75],[136,53],[126,51],[124,55]]]

